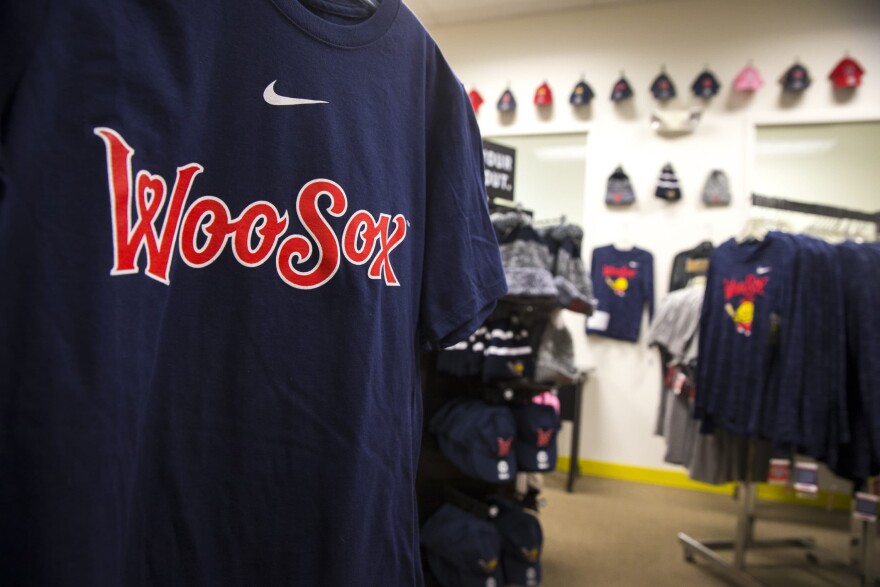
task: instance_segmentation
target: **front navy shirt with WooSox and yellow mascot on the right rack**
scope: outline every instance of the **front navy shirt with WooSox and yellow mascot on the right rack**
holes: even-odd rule
[[[791,342],[804,336],[793,311],[796,270],[795,247],[779,233],[730,239],[712,252],[695,381],[695,414],[708,423],[704,429],[717,424],[778,440],[776,418],[797,422],[796,411],[776,412],[780,395],[799,393],[803,372],[802,346]]]

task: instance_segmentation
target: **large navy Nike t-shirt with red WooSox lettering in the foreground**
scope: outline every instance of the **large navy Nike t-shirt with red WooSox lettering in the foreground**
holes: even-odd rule
[[[506,285],[415,16],[5,3],[0,54],[2,582],[420,584],[418,351]]]

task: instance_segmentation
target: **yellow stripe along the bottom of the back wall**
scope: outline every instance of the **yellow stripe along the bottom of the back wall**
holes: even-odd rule
[[[684,471],[669,471],[666,469],[654,469],[651,467],[636,467],[633,465],[619,465],[602,461],[580,459],[581,475],[592,477],[604,477],[606,479],[618,479],[620,481],[633,481],[635,483],[647,483],[649,485],[662,485],[678,489],[690,489],[692,491],[704,491],[707,493],[719,493],[732,495],[735,484],[708,485],[699,483],[688,478]],[[556,459],[556,470],[568,472],[571,459],[559,456]],[[782,503],[796,503],[813,507],[822,507],[834,510],[849,511],[852,507],[850,496],[844,493],[820,491],[814,498],[806,498],[797,495],[793,489],[761,483],[758,485],[758,499]]]

